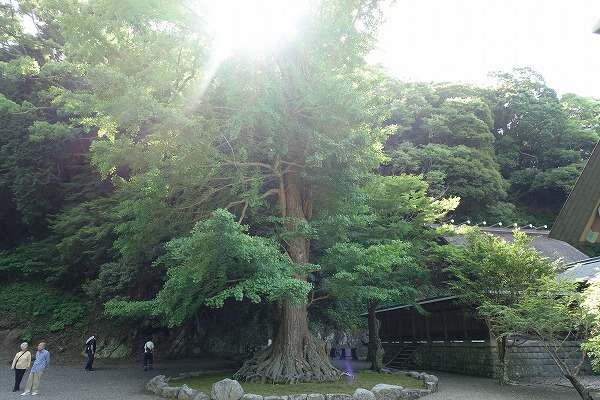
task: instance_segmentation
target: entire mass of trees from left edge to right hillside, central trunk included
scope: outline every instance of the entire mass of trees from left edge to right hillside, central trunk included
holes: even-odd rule
[[[478,87],[367,65],[378,2],[318,2],[285,46],[219,65],[190,3],[0,4],[0,279],[170,326],[277,304],[246,378],[331,378],[309,314],[414,301],[429,223],[550,225],[600,138],[600,100],[528,68]]]

